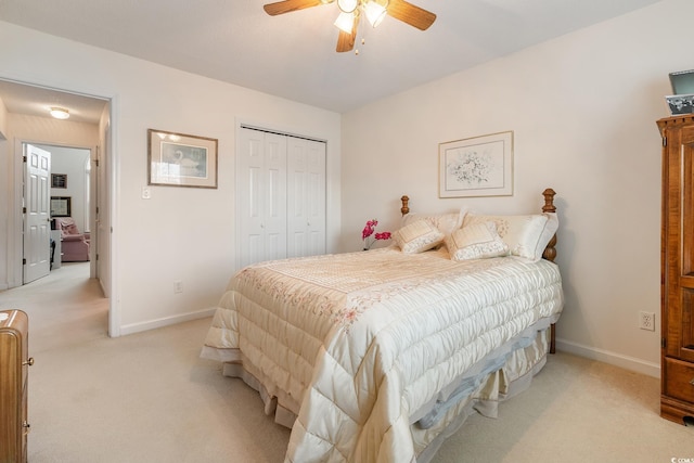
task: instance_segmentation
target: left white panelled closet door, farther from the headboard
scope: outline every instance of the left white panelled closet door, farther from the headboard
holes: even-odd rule
[[[286,257],[286,137],[242,128],[236,173],[237,263]]]

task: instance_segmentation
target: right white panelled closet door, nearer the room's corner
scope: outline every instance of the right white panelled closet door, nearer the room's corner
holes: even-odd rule
[[[325,254],[325,143],[287,140],[287,257]]]

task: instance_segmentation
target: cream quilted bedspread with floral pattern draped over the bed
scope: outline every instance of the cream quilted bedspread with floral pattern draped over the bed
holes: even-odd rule
[[[298,414],[286,461],[411,462],[410,413],[562,307],[549,261],[390,247],[243,269],[205,344],[237,349],[286,393]]]

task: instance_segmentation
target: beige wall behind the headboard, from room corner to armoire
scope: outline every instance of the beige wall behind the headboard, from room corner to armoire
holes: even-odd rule
[[[659,374],[660,137],[668,73],[687,69],[694,2],[663,1],[344,115],[343,247],[367,219],[466,205],[534,211],[552,187],[566,309],[560,348]],[[438,198],[438,143],[512,130],[511,197]],[[365,205],[369,205],[365,207]]]

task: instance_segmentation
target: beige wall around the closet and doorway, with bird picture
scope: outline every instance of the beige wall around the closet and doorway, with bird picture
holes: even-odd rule
[[[240,120],[327,141],[327,246],[336,247],[338,114],[7,23],[0,23],[0,43],[12,43],[0,47],[0,78],[112,100],[114,334],[204,316],[217,304],[235,270]],[[218,139],[219,188],[153,187],[152,198],[143,200],[149,128]],[[5,166],[0,164],[0,171]],[[0,230],[0,248],[8,241],[7,228]],[[174,293],[175,281],[183,283],[182,294]]]

